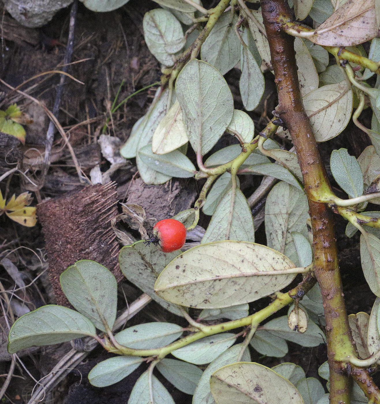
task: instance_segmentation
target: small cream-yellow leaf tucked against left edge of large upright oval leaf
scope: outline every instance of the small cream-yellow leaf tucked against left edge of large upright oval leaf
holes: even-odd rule
[[[153,133],[152,151],[155,154],[169,153],[185,145],[188,141],[182,109],[179,102],[176,101]]]

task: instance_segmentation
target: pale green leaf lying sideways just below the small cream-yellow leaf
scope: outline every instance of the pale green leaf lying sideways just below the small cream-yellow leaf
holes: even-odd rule
[[[152,170],[178,178],[194,177],[196,169],[193,163],[179,150],[166,154],[154,154],[152,145],[139,150],[139,157]]]

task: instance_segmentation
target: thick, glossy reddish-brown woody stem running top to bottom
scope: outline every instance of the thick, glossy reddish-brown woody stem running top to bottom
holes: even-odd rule
[[[313,269],[321,288],[326,318],[330,403],[349,403],[351,386],[346,362],[348,356],[356,356],[356,349],[352,345],[344,305],[331,213],[325,204],[314,202],[319,199],[317,196],[320,194],[331,194],[331,187],[302,103],[294,38],[282,31],[279,22],[281,16],[291,18],[288,2],[261,0],[260,3],[277,85],[277,114],[292,137],[309,201],[313,228]]]

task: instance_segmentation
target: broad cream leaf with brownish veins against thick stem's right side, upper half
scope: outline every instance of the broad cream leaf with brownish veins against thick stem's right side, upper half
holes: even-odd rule
[[[338,136],[351,119],[352,90],[347,89],[346,81],[319,87],[303,101],[317,142]]]

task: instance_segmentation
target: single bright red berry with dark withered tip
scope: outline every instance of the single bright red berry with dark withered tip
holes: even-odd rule
[[[178,220],[164,219],[155,224],[153,235],[159,239],[162,251],[172,252],[185,244],[186,227]]]

